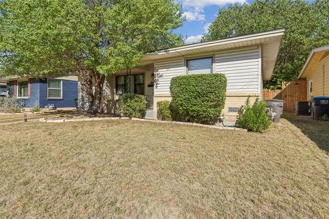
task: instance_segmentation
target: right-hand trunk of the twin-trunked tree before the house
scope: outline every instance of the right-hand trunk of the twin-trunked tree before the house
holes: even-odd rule
[[[105,75],[101,75],[97,72],[93,73],[94,79],[94,95],[93,95],[93,106],[92,112],[93,113],[102,113],[101,111],[101,96],[103,95],[103,84],[105,81]]]

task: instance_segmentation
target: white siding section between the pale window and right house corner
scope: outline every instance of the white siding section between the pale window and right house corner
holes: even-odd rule
[[[228,79],[227,92],[257,93],[258,70],[261,62],[258,47],[241,51],[226,51],[215,55],[215,72],[223,73]]]

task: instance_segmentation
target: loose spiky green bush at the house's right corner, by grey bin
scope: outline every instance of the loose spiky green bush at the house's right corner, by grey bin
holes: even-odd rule
[[[247,129],[248,131],[262,132],[271,125],[271,118],[267,115],[266,103],[256,99],[251,105],[250,96],[241,106],[236,120],[236,127]]]

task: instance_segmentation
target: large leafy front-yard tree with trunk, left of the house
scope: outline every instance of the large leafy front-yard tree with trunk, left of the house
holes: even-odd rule
[[[106,76],[182,44],[181,15],[173,0],[3,0],[0,75],[79,73],[99,112]]]

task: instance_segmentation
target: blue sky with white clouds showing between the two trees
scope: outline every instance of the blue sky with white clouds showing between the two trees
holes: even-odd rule
[[[186,21],[184,25],[175,29],[175,33],[182,34],[186,44],[199,42],[208,32],[208,26],[215,20],[218,11],[222,7],[228,7],[231,3],[252,3],[254,0],[178,0],[182,4],[182,10]]]

